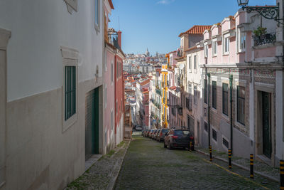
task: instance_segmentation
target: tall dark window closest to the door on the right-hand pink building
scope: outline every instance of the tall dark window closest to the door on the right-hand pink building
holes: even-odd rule
[[[245,97],[246,97],[246,90],[242,86],[236,87],[237,93],[237,105],[236,105],[236,119],[239,123],[244,125],[245,122]]]

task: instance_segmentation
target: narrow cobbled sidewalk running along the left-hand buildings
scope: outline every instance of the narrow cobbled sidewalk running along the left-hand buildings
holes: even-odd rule
[[[129,144],[130,141],[121,142],[109,154],[98,159],[82,176],[68,184],[65,190],[114,189]]]

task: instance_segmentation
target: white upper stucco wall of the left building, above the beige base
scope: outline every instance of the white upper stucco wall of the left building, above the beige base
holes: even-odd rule
[[[101,2],[102,3],[102,2]],[[100,6],[102,13],[102,6]],[[60,46],[80,52],[79,82],[102,76],[101,31],[94,29],[94,1],[78,1],[78,11],[67,12],[63,0],[1,0],[0,28],[12,37],[7,48],[8,101],[62,86]]]

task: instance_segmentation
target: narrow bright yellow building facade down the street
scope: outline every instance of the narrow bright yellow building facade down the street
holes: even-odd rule
[[[168,58],[168,63],[170,56],[166,54],[165,56]],[[162,120],[163,120],[163,128],[168,128],[168,63],[162,65]]]

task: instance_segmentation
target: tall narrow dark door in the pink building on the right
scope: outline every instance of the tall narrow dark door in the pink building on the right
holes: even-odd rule
[[[263,154],[271,158],[271,95],[262,92]]]

